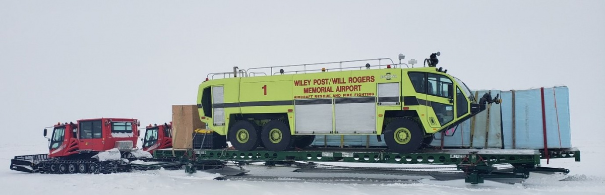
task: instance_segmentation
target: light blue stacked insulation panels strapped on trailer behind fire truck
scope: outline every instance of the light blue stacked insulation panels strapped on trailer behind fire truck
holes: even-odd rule
[[[492,96],[500,94],[502,104],[488,105],[485,111],[458,125],[453,134],[443,137],[441,134],[436,134],[431,145],[448,148],[541,149],[545,148],[546,134],[546,147],[571,148],[567,87],[511,91],[480,90],[475,91],[474,95],[479,98],[490,92]],[[544,99],[546,131],[543,128],[542,99]],[[316,136],[313,145],[386,147],[384,141],[378,142],[376,136],[355,135]]]

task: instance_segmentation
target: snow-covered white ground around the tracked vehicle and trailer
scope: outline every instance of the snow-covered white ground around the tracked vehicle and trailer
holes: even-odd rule
[[[39,140],[39,139],[37,139]],[[571,170],[564,181],[550,177],[531,177],[523,185],[487,181],[470,185],[462,180],[435,181],[416,177],[420,183],[327,183],[299,182],[284,177],[281,182],[247,180],[213,180],[219,176],[198,172],[137,171],[119,174],[28,174],[9,170],[10,159],[16,155],[45,153],[46,143],[0,145],[0,189],[3,194],[604,194],[605,171],[600,153],[603,142],[584,140],[580,147],[582,162],[573,159],[551,160],[550,165]],[[585,145],[585,146],[584,146]],[[292,173],[296,174],[296,173]],[[391,176],[392,177],[392,176]],[[402,179],[405,179],[402,177]]]

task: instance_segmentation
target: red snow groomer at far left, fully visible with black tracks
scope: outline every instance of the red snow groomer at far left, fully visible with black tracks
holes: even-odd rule
[[[129,162],[151,158],[136,148],[137,119],[82,119],[44,129],[48,154],[15,156],[11,170],[28,173],[116,173],[131,170]],[[48,128],[52,134],[47,137]]]

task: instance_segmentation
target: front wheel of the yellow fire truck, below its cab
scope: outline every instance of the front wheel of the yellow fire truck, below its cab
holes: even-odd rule
[[[384,142],[389,150],[397,153],[416,151],[422,146],[423,139],[424,130],[409,118],[395,119],[384,130]]]

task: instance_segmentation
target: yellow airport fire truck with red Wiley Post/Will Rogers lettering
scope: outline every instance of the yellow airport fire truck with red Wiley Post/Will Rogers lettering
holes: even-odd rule
[[[209,74],[199,85],[200,119],[241,151],[302,148],[316,135],[376,135],[381,141],[384,134],[389,150],[412,152],[430,144],[433,134],[485,110],[485,104],[499,103],[491,94],[477,102],[462,81],[436,67],[439,54],[425,59],[428,67],[416,68],[402,64],[402,55],[399,64],[379,58],[234,67]],[[325,68],[329,65],[338,67]],[[318,66],[324,68],[311,68]]]

